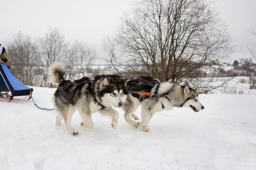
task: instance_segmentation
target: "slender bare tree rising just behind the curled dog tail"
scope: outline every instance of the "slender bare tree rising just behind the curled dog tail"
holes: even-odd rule
[[[55,61],[64,62],[67,55],[67,42],[58,28],[48,27],[44,37],[37,38],[37,59],[41,65],[41,86],[47,85],[46,70]]]

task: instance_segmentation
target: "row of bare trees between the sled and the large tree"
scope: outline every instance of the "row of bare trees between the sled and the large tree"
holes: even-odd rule
[[[25,85],[48,87],[47,68],[55,61],[67,68],[67,79],[79,79],[94,62],[96,52],[86,42],[67,42],[57,28],[48,27],[44,36],[30,37],[19,31],[7,45],[13,74]]]

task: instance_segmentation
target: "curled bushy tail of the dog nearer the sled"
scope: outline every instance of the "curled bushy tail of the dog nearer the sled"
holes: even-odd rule
[[[66,66],[61,62],[54,62],[47,69],[48,82],[59,85],[64,80],[63,76],[66,73]]]

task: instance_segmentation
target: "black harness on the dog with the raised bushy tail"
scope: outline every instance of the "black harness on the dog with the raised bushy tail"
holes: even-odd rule
[[[72,99],[73,99],[73,96],[74,96],[74,94],[75,94],[76,88],[79,87],[79,86],[81,86],[81,85],[84,85],[85,83],[86,83],[86,82],[82,82],[82,83],[77,84],[76,82],[70,82],[70,84],[68,84],[68,85],[66,85],[66,86],[64,86],[64,87],[58,86],[57,90],[60,91],[61,94],[63,94],[63,96],[67,99],[67,101],[68,101],[71,105],[75,106],[75,103],[72,101]],[[73,90],[70,92],[70,94],[67,94],[67,92],[65,91],[65,89],[67,89],[67,88],[70,87],[71,85],[73,85],[74,88],[73,88]],[[95,96],[94,96],[94,99],[95,99],[95,102],[97,102],[98,105],[101,106],[101,109],[100,109],[100,110],[106,108],[104,105],[102,105],[102,104],[96,99]]]

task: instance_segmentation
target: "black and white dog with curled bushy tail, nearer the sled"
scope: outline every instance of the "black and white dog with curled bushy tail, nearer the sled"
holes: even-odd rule
[[[64,80],[66,72],[65,65],[60,62],[53,63],[48,68],[49,82],[65,88],[67,94],[70,94],[74,86],[68,86],[72,83],[70,80]],[[94,79],[83,77],[75,80],[78,85],[70,102],[64,97],[61,91],[56,90],[53,102],[58,115],[56,116],[56,125],[61,125],[64,119],[67,130],[71,135],[76,136],[78,131],[71,127],[70,122],[73,113],[78,110],[83,122],[82,127],[93,128],[92,113],[98,112],[109,116],[112,119],[112,127],[116,129],[119,121],[119,114],[111,107],[122,107],[127,99],[128,91],[125,87],[126,80],[119,75],[97,75]]]

